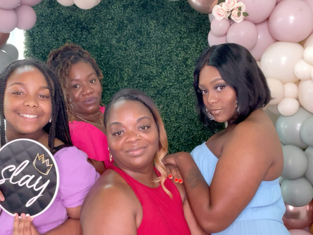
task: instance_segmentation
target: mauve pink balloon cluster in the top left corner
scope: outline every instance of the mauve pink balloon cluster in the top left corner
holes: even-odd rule
[[[32,6],[42,0],[0,0],[0,32],[9,33],[15,27],[31,29],[36,23],[36,13]]]

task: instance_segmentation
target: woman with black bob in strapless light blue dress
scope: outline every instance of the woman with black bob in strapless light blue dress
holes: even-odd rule
[[[191,154],[163,159],[178,167],[199,225],[219,235],[290,234],[282,221],[283,152],[262,109],[270,91],[256,61],[238,44],[214,45],[198,58],[193,86],[201,121],[213,131],[228,123]]]

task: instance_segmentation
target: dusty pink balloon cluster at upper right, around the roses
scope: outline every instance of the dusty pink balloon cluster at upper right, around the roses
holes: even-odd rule
[[[237,43],[259,61],[274,42],[300,42],[313,32],[313,0],[241,1],[249,16],[240,23],[213,18],[209,45]]]

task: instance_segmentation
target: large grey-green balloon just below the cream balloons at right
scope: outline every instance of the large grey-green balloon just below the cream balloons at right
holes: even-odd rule
[[[291,116],[280,115],[276,121],[276,131],[280,141],[285,145],[295,145],[300,149],[308,147],[300,137],[301,125],[313,114],[299,107],[298,111]]]

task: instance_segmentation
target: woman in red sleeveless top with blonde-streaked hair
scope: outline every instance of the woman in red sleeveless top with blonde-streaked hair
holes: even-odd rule
[[[167,136],[154,102],[141,91],[121,90],[107,105],[104,124],[114,164],[86,196],[83,233],[204,234],[183,186],[167,178]]]

